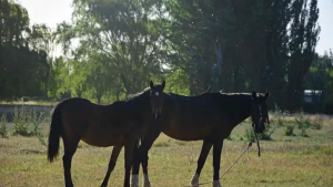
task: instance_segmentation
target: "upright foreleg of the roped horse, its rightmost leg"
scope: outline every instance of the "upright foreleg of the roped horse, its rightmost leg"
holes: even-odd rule
[[[213,146],[213,187],[222,187],[220,184],[220,165],[221,165],[221,154],[222,154],[223,141],[214,143]]]

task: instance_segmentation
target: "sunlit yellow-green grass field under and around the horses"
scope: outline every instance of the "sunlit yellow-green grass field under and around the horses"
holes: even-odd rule
[[[292,118],[292,117],[290,117]],[[283,128],[272,135],[273,141],[261,141],[262,156],[253,144],[250,160],[244,155],[221,179],[229,187],[332,187],[333,186],[333,120],[324,117],[322,129],[307,129],[309,137],[284,136]],[[287,122],[287,120],[285,120]],[[239,125],[225,141],[221,174],[246,147],[245,127]],[[8,124],[9,132],[12,124]],[[47,135],[49,126],[43,126]],[[243,138],[243,141],[242,141]],[[196,167],[202,142],[178,142],[161,135],[150,152],[149,173],[153,187],[181,187],[190,184]],[[110,148],[92,147],[80,143],[72,162],[75,186],[100,186]],[[0,138],[0,187],[64,186],[61,159],[47,163],[47,147],[37,137],[10,136]],[[62,149],[61,149],[62,155]],[[61,158],[61,157],[60,157]],[[123,185],[123,152],[121,153],[109,186]],[[140,173],[142,175],[142,172]],[[202,170],[200,181],[212,180],[212,153]],[[140,184],[142,177],[140,177]],[[211,185],[205,185],[211,186]]]

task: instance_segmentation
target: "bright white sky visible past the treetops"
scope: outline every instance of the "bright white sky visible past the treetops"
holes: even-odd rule
[[[46,23],[56,29],[57,23],[71,20],[72,0],[19,0],[19,2],[28,10],[31,23]],[[324,54],[324,51],[333,49],[333,0],[319,0],[317,6],[321,33],[316,52]],[[58,48],[56,55],[59,55],[60,51]]]

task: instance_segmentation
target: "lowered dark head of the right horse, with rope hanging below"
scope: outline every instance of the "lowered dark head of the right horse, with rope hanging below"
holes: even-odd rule
[[[270,123],[269,110],[266,105],[266,100],[270,96],[270,92],[264,95],[256,95],[252,92],[252,106],[251,106],[251,117],[252,126],[255,133],[263,133],[265,131],[265,122]]]

